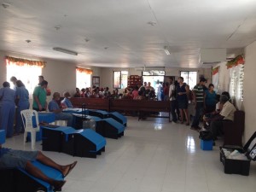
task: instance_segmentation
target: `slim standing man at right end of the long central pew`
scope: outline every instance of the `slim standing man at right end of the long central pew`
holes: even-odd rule
[[[175,109],[177,109],[177,92],[176,92],[176,86],[174,84],[174,79],[170,78],[170,89],[169,89],[169,98],[171,102],[171,113],[172,113],[172,121],[174,123],[177,123],[177,115],[175,113]],[[178,109],[177,109],[178,110]]]

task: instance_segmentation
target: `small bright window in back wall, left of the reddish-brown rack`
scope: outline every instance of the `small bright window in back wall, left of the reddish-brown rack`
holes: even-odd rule
[[[115,71],[113,72],[113,89],[125,89],[127,87],[128,72]]]

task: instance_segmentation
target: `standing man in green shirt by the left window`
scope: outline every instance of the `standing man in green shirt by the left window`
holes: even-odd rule
[[[33,109],[36,111],[46,111],[46,88],[48,82],[43,80],[40,85],[38,85],[33,92]]]

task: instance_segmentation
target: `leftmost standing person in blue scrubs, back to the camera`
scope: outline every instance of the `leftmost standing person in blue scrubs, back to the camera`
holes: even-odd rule
[[[15,90],[10,89],[9,82],[0,89],[0,130],[6,131],[6,137],[13,137],[15,121]]]

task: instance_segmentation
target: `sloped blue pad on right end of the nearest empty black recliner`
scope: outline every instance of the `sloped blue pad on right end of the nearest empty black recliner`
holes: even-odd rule
[[[96,145],[96,151],[106,146],[106,139],[102,137],[100,134],[96,133],[96,131],[85,129],[79,134],[87,138],[91,143],[94,143]]]

